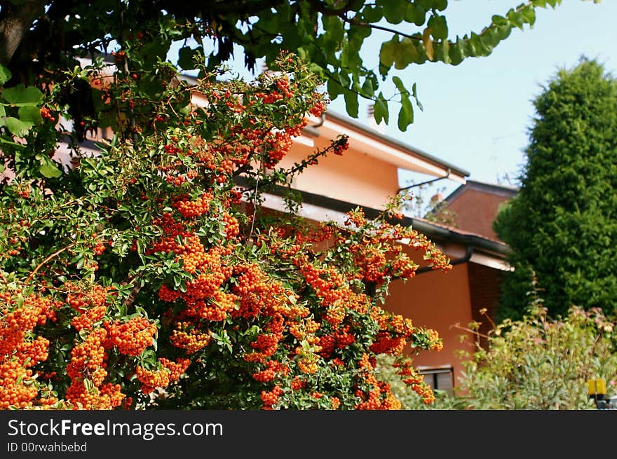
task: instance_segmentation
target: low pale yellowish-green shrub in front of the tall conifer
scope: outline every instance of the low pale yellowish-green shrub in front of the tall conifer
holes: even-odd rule
[[[487,345],[461,352],[465,373],[457,388],[464,409],[595,409],[587,381],[603,378],[617,392],[614,324],[601,310],[571,308],[548,317],[536,303],[522,320],[494,327]]]

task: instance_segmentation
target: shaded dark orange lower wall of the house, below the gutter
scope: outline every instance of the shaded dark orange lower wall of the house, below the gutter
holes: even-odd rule
[[[411,252],[408,254],[413,255]],[[417,259],[417,256],[414,258]],[[414,366],[452,365],[454,385],[458,385],[457,380],[463,367],[454,351],[463,348],[473,350],[471,336],[465,343],[461,343],[459,337],[467,333],[454,327],[455,324],[467,327],[473,320],[468,264],[456,265],[447,273],[421,273],[407,282],[395,280],[391,284],[390,296],[384,308],[409,317],[416,327],[438,331],[443,339],[443,349],[438,352],[421,351],[414,357]]]

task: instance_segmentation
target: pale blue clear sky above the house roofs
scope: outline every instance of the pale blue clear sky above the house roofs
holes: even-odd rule
[[[451,0],[449,35],[480,32],[491,15],[504,15],[520,3]],[[488,57],[456,67],[440,62],[408,67],[398,75],[405,83],[417,83],[424,110],[415,111],[406,132],[398,130],[394,117],[386,134],[468,170],[470,179],[517,185],[534,116],[531,100],[557,69],[573,67],[581,55],[596,58],[617,76],[616,20],[616,0],[563,0],[555,10],[539,8],[533,28],[515,29]],[[367,43],[365,55],[377,55],[381,41],[370,39],[374,43]],[[365,121],[366,107],[367,102],[360,106],[360,121]],[[330,110],[344,113],[343,101],[332,102]],[[400,174],[405,184],[423,178]],[[447,194],[457,185],[440,181],[434,189],[444,186]]]

